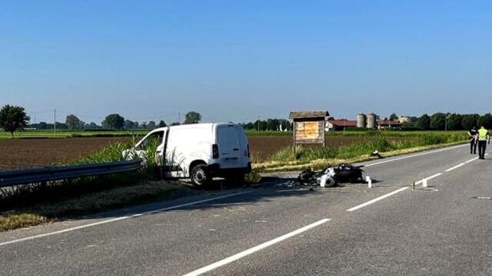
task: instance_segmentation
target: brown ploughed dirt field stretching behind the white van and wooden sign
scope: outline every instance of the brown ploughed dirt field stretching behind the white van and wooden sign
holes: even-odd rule
[[[57,138],[0,139],[0,171],[32,169],[70,162],[104,147],[108,143],[129,138]],[[347,145],[370,137],[328,137],[328,146]],[[254,160],[264,160],[284,147],[292,146],[290,136],[250,136]]]

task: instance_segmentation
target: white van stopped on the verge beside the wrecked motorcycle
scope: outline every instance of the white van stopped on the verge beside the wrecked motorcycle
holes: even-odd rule
[[[186,124],[150,131],[136,143],[136,155],[145,155],[148,141],[157,139],[157,158],[166,176],[190,178],[205,185],[214,176],[242,180],[251,172],[250,148],[238,124]]]

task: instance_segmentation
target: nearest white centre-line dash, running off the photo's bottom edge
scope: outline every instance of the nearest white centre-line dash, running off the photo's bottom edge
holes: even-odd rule
[[[316,223],[306,225],[303,228],[299,228],[293,232],[290,232],[290,233],[285,234],[283,236],[277,237],[276,239],[272,239],[271,241],[264,242],[263,244],[259,244],[256,247],[252,247],[250,249],[242,251],[242,252],[235,254],[233,256],[230,256],[228,258],[224,258],[223,260],[218,261],[216,263],[212,263],[211,265],[207,265],[203,268],[199,268],[198,270],[194,270],[192,272],[186,273],[183,276],[202,275],[205,272],[209,272],[210,270],[220,268],[221,266],[227,265],[228,263],[232,263],[233,261],[238,261],[240,258],[244,258],[245,256],[248,256],[248,255],[251,255],[257,251],[260,251],[261,249],[265,249],[266,247],[271,247],[273,244],[277,244],[278,242],[282,242],[285,239],[288,239],[290,237],[294,237],[295,235],[299,235],[302,232],[305,232],[311,228],[315,228],[316,226],[321,225],[323,223],[327,223],[328,221],[331,221],[330,218],[324,218],[321,221],[317,221]]]

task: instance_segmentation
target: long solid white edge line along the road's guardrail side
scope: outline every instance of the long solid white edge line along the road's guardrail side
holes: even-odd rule
[[[127,218],[136,218],[138,216],[145,216],[145,215],[152,214],[152,213],[159,213],[159,212],[162,212],[162,211],[168,211],[168,210],[172,210],[172,209],[178,209],[178,208],[186,207],[186,206],[190,206],[190,205],[195,205],[195,204],[200,204],[200,203],[205,203],[205,202],[212,202],[212,201],[217,200],[217,199],[224,199],[224,198],[227,198],[227,197],[234,197],[236,195],[247,194],[248,192],[251,192],[251,191],[247,191],[247,192],[236,192],[236,193],[231,194],[231,195],[223,195],[223,196],[220,196],[220,197],[212,197],[212,198],[209,198],[209,199],[203,199],[203,200],[199,200],[199,201],[196,201],[196,202],[189,202],[189,203],[185,203],[185,204],[179,204],[179,205],[175,205],[175,206],[169,206],[169,207],[166,207],[166,208],[157,209],[157,210],[153,210],[153,211],[146,211],[144,213],[136,213],[136,214],[131,215],[131,216],[120,216],[118,218],[112,218],[112,219],[109,219],[107,221],[98,221],[97,223],[89,223],[89,224],[86,224],[86,225],[80,225],[80,226],[77,226],[77,227],[74,227],[74,228],[67,228],[67,229],[58,230],[58,231],[55,231],[55,232],[48,232],[48,233],[41,234],[41,235],[35,235],[35,236],[31,236],[31,237],[23,237],[21,239],[13,239],[13,240],[8,241],[8,242],[1,242],[0,243],[0,247],[1,246],[4,246],[4,245],[7,245],[7,244],[14,244],[14,243],[17,243],[17,242],[25,242],[25,241],[30,240],[30,239],[38,239],[40,237],[48,237],[48,236],[52,236],[52,235],[62,234],[62,233],[65,233],[65,232],[70,232],[70,231],[80,230],[80,229],[84,229],[84,228],[89,228],[89,227],[92,227],[92,226],[101,225],[101,224],[105,224],[105,223],[112,223],[112,222],[115,222],[115,221],[122,221],[122,220],[127,219]]]

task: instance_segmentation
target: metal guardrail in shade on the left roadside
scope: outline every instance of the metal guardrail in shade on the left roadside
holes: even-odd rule
[[[86,164],[77,166],[48,166],[40,169],[19,171],[0,171],[0,188],[44,183],[53,180],[101,176],[103,174],[124,173],[141,168],[141,159],[131,161],[110,162],[102,164]]]

